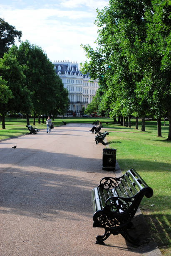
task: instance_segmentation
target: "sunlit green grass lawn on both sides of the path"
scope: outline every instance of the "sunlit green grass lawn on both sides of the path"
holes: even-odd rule
[[[104,130],[109,131],[107,147],[116,148],[116,159],[124,173],[133,168],[144,178],[145,182],[154,190],[151,198],[144,198],[141,211],[146,222],[150,225],[151,234],[156,240],[163,255],[170,255],[171,238],[171,141],[168,136],[168,121],[162,122],[162,136],[157,137],[156,121],[146,121],[146,132],[135,129],[135,120],[131,120],[131,128],[114,124],[109,118],[57,118],[55,126],[67,123],[93,123],[99,119]],[[106,124],[108,122],[108,124]],[[32,125],[33,119],[30,119]],[[6,129],[2,130],[0,123],[0,140],[28,133],[26,120],[5,119]],[[36,127],[45,129],[46,124]],[[154,205],[154,206],[151,206]]]

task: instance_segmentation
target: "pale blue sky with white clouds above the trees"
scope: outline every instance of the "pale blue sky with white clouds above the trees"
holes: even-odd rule
[[[50,61],[87,59],[81,44],[96,47],[96,9],[109,0],[1,0],[0,18],[22,31],[22,41],[40,46]],[[18,43],[17,43],[18,45]]]

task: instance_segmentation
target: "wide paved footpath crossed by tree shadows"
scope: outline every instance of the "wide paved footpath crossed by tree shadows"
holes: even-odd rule
[[[95,244],[104,229],[92,228],[91,190],[114,173],[102,171],[104,146],[91,127],[69,124],[0,142],[0,256],[158,255],[120,235]]]

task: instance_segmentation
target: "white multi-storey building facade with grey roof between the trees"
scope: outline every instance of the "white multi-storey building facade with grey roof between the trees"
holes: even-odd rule
[[[98,80],[89,82],[89,74],[82,74],[77,62],[55,61],[53,64],[56,74],[62,79],[64,88],[68,90],[69,114],[81,115],[82,108],[87,108],[99,88]]]

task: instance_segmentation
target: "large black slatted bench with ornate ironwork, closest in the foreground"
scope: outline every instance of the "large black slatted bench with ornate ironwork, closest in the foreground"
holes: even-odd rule
[[[101,179],[99,186],[92,189],[93,227],[105,230],[103,236],[96,237],[97,244],[119,233],[130,243],[139,243],[128,230],[144,195],[152,197],[153,189],[133,169],[119,178]]]

